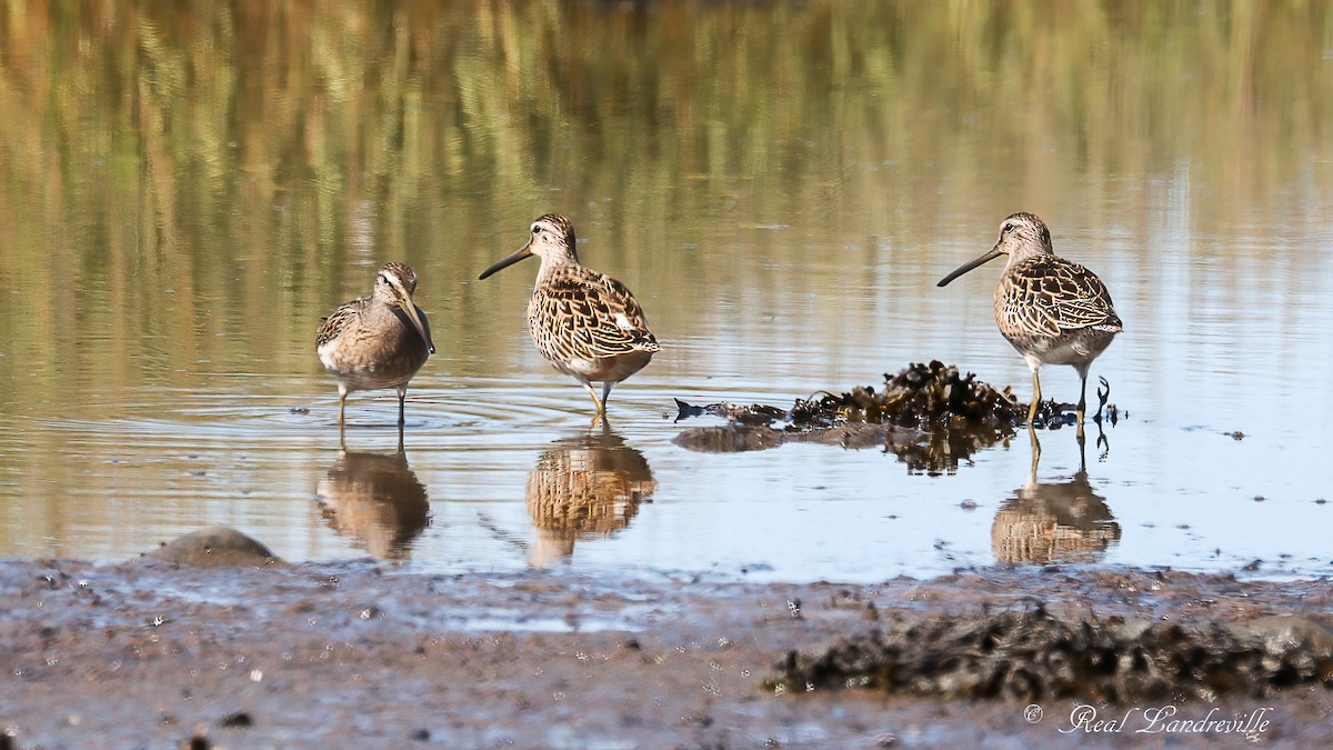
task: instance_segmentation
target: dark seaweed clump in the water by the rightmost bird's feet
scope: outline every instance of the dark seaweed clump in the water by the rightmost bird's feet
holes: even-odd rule
[[[1114,422],[1118,411],[1106,406],[1109,390],[1098,391],[1094,420]],[[697,427],[676,436],[684,448],[702,452],[754,451],[782,443],[822,443],[845,448],[880,447],[897,455],[913,471],[948,472],[977,451],[1008,440],[1024,426],[1028,404],[1006,387],[998,390],[972,372],[938,360],[912,363],[897,375],[884,375],[884,386],[861,386],[841,394],[821,392],[796,399],[790,408],[768,404],[716,403],[690,406],[676,400],[677,420],[724,416],[724,427]],[[1034,423],[1057,428],[1074,422],[1074,406],[1054,400],[1038,404]]]

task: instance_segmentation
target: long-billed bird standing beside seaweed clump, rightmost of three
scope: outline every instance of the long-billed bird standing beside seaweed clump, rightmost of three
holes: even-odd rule
[[[1116,334],[1124,331],[1110,292],[1096,274],[1056,255],[1050,230],[1032,214],[1014,214],[1000,224],[1000,239],[990,252],[965,263],[944,279],[958,276],[1000,255],[1009,263],[996,287],[996,324],[1032,370],[1032,424],[1041,402],[1042,364],[1072,364],[1082,380],[1078,392],[1078,426],[1082,428],[1088,396],[1088,366]]]

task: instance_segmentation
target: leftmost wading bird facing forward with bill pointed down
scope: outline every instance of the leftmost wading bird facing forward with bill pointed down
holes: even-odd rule
[[[375,290],[339,306],[324,319],[315,351],[337,378],[337,427],[352,391],[399,390],[399,427],[408,380],[435,354],[431,324],[413,304],[416,272],[403,263],[385,263],[375,276]]]

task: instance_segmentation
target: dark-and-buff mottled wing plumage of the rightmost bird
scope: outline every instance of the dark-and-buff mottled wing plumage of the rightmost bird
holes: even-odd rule
[[[1062,331],[1120,331],[1110,292],[1096,274],[1062,258],[1042,255],[1005,274],[996,312],[1028,335],[1058,336]]]

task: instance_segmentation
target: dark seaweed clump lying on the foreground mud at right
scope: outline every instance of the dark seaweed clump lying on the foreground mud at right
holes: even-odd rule
[[[877,633],[788,653],[768,686],[1124,705],[1213,701],[1224,693],[1264,697],[1312,682],[1333,689],[1333,635],[1305,617],[1190,627],[1120,617],[1061,619],[1037,605],[977,617],[898,614]]]

